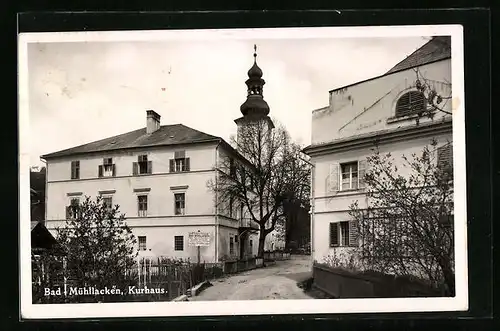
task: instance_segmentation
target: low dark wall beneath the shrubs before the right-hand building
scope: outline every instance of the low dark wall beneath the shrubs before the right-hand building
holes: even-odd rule
[[[440,294],[429,285],[380,273],[354,273],[315,264],[313,286],[334,298],[427,297]]]

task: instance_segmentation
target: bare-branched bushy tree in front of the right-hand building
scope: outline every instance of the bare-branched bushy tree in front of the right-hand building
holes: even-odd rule
[[[451,145],[433,139],[420,155],[403,158],[402,175],[390,153],[367,158],[367,207],[350,206],[365,267],[417,276],[454,295]]]

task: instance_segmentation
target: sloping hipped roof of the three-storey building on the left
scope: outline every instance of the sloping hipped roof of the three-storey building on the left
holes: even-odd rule
[[[146,128],[142,128],[118,136],[42,155],[42,158],[49,159],[92,152],[113,151],[138,147],[193,144],[210,141],[217,142],[220,140],[222,140],[222,138],[192,129],[183,124],[162,125],[158,130],[151,134],[146,133]]]

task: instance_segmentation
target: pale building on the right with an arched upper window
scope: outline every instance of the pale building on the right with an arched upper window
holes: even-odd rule
[[[353,64],[354,65],[354,64]],[[381,153],[421,152],[432,138],[437,160],[452,166],[451,102],[432,119],[417,113],[428,107],[417,88],[417,72],[440,95],[451,96],[450,37],[434,37],[388,72],[331,90],[329,105],[312,112],[311,145],[304,152],[313,168],[312,254],[318,262],[359,245],[349,206],[366,206],[366,157],[377,143]],[[449,113],[449,114],[448,114]],[[406,169],[398,167],[402,175]]]

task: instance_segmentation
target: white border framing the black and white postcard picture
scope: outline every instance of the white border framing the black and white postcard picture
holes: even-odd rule
[[[454,298],[252,300],[101,304],[32,304],[29,195],[28,43],[210,39],[373,38],[451,35],[455,171]],[[269,315],[320,313],[430,312],[468,309],[463,28],[460,25],[217,29],[166,31],[60,32],[19,35],[19,201],[21,317],[23,319]],[[461,217],[457,217],[460,215]]]

